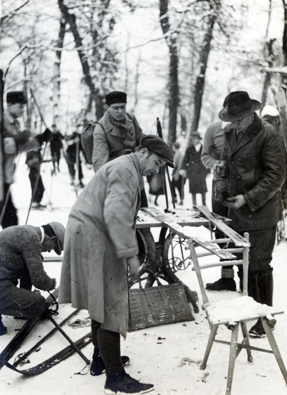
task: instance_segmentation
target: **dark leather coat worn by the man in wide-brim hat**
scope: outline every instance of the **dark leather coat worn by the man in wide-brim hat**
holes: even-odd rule
[[[243,194],[246,200],[240,209],[229,208],[233,228],[239,232],[275,226],[286,171],[284,143],[276,129],[255,114],[237,141],[235,128],[229,126],[221,163],[227,167],[230,196]]]

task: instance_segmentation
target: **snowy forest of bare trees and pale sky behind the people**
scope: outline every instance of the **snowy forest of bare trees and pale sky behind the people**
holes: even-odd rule
[[[204,135],[232,90],[276,105],[286,20],[285,0],[4,0],[4,102],[24,89],[27,129],[44,128],[38,104],[48,126],[71,134],[124,90],[144,133],[159,117],[169,143]]]

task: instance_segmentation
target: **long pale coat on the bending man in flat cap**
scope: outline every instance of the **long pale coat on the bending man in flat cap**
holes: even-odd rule
[[[96,172],[69,214],[61,271],[59,303],[87,309],[103,329],[124,337],[129,317],[126,258],[139,253],[140,178],[134,153]]]

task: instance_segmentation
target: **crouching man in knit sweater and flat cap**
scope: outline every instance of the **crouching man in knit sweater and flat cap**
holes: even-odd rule
[[[40,227],[10,226],[0,233],[0,314],[30,318],[45,310],[45,298],[32,292],[51,291],[56,280],[44,271],[41,252],[60,255],[65,228],[59,222]],[[20,280],[20,287],[17,287]],[[0,315],[0,335],[7,333]]]

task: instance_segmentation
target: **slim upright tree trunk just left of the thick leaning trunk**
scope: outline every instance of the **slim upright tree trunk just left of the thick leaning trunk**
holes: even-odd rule
[[[57,40],[57,48],[63,48],[64,38],[66,32],[66,19],[62,14],[60,20],[59,34]],[[61,66],[62,51],[56,51],[56,59],[54,62],[54,81],[53,81],[53,122],[56,123],[56,119],[59,117],[60,108],[60,87],[61,87]]]

